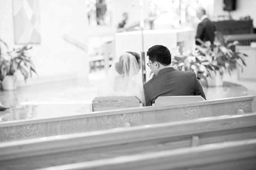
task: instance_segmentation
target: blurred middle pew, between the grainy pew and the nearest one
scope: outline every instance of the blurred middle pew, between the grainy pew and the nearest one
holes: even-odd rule
[[[256,138],[256,113],[0,143],[1,169],[34,169]]]

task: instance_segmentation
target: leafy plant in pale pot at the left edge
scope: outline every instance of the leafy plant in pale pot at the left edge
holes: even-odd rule
[[[32,47],[23,46],[9,50],[6,43],[4,45],[8,51],[0,53],[0,80],[4,90],[14,90],[17,88],[16,73],[18,70],[23,74],[25,81],[32,76],[32,72],[36,73],[33,62],[27,54]]]

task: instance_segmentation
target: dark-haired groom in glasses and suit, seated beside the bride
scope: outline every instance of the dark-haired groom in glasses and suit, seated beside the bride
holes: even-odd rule
[[[157,76],[143,85],[146,105],[152,106],[158,96],[202,96],[203,88],[194,72],[175,70],[170,66],[167,47],[155,45],[148,49],[148,66]]]

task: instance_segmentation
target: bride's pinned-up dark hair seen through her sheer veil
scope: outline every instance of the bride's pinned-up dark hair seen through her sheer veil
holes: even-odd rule
[[[127,57],[128,58],[134,57],[136,59],[137,63],[138,63],[139,69],[140,69],[140,67],[141,67],[140,66],[140,54],[135,53],[135,52],[130,52],[130,51],[128,51],[126,53],[132,54],[132,56],[128,55]],[[128,58],[127,58],[127,63],[125,65],[123,65],[123,60],[124,60],[124,56],[123,55],[120,56],[119,62],[115,63],[115,69],[116,69],[116,72],[118,74],[123,74],[124,73],[124,69],[125,70],[129,70],[130,69],[129,67],[130,67],[130,60],[131,59],[129,60]]]

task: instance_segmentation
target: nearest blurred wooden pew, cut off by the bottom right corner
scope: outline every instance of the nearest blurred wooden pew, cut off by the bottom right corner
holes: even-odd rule
[[[255,162],[256,139],[249,139],[86,161],[40,170],[253,170]]]

